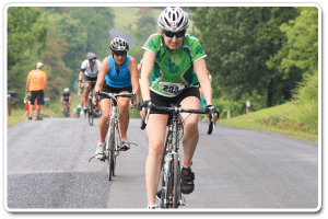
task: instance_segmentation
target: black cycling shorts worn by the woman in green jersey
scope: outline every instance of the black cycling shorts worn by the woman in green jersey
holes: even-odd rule
[[[151,102],[156,106],[169,107],[172,104],[179,105],[183,102],[183,100],[185,100],[188,96],[196,96],[200,101],[199,89],[198,88],[186,89],[179,95],[174,97],[162,96],[151,91]],[[152,110],[151,114],[168,114],[168,113],[165,111],[163,112],[159,110]]]

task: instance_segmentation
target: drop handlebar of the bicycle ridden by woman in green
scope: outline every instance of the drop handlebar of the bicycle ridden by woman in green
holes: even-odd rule
[[[161,110],[161,111],[166,111],[168,113],[195,113],[195,114],[210,114],[210,124],[209,124],[209,129],[208,129],[208,135],[211,135],[213,131],[213,128],[215,128],[215,122],[214,122],[214,111],[206,111],[206,110],[192,110],[192,108],[181,108],[177,106],[173,107],[165,107],[165,106],[156,106],[153,103],[149,102],[148,106],[145,107],[145,118],[142,119],[141,123],[141,129],[143,130],[148,124],[149,115],[151,110]],[[139,108],[142,111],[142,106]]]

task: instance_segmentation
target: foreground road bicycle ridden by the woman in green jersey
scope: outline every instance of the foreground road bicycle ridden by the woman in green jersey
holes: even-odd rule
[[[141,110],[141,108],[139,108]],[[161,181],[159,186],[160,191],[156,194],[156,199],[160,201],[161,208],[178,208],[178,206],[185,206],[186,201],[181,195],[180,184],[181,184],[181,169],[180,160],[178,154],[179,140],[184,135],[184,122],[181,119],[180,113],[196,113],[196,114],[209,114],[210,124],[208,134],[211,135],[213,128],[215,127],[214,122],[214,110],[191,110],[181,108],[180,106],[155,106],[149,103],[147,106],[147,116],[142,120],[141,129],[144,129],[149,119],[149,114],[151,110],[161,110],[168,113],[168,130],[165,140],[165,150],[162,159],[162,171]]]

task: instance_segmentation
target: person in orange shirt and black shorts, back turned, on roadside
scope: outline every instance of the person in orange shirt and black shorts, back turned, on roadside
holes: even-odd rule
[[[40,106],[44,105],[44,96],[48,95],[48,88],[47,88],[47,74],[43,71],[43,64],[38,62],[36,65],[36,69],[28,72],[27,81],[26,81],[26,92],[31,91],[31,104],[30,104],[30,117],[28,119],[32,119],[33,117],[33,111],[34,111],[34,102],[37,101],[36,105],[36,120],[42,120],[39,117],[39,111]],[[46,93],[44,93],[44,90]]]

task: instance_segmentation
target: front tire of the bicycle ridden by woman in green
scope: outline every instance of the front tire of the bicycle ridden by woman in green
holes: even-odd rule
[[[174,153],[173,155],[173,170],[174,170],[174,184],[173,184],[173,208],[178,208],[179,199],[180,199],[180,177],[181,177],[181,170],[180,170],[180,162],[178,160],[178,154]]]

